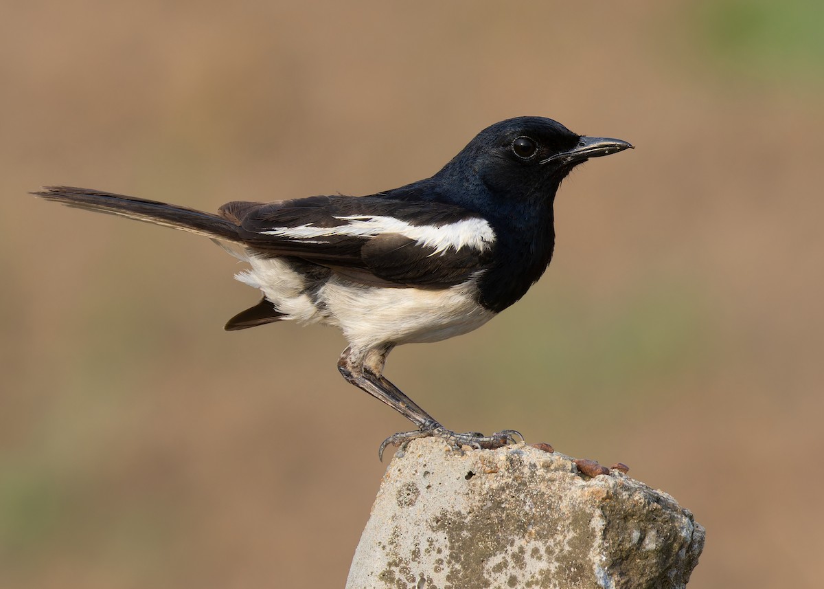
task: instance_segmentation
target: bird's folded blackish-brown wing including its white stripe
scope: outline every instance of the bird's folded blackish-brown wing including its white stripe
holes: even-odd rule
[[[478,214],[427,201],[311,196],[232,202],[221,214],[254,252],[300,257],[366,284],[456,285],[484,268],[495,241]]]

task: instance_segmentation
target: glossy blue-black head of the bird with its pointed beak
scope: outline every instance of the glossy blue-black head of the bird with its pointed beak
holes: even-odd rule
[[[583,137],[555,120],[520,116],[482,130],[437,176],[453,184],[482,185],[484,200],[491,197],[498,205],[551,205],[560,182],[579,163],[631,147],[620,139]]]

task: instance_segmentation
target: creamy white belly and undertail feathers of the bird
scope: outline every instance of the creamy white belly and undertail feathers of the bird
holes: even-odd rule
[[[250,270],[238,273],[237,280],[262,290],[286,319],[338,327],[353,348],[438,342],[471,332],[494,316],[476,301],[478,276],[434,290],[365,286],[333,274],[312,300],[289,262],[251,257],[249,263]]]

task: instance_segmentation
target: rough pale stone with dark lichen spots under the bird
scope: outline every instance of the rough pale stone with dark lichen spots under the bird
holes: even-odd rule
[[[705,533],[690,511],[546,450],[411,442],[386,469],[347,589],[686,586]]]

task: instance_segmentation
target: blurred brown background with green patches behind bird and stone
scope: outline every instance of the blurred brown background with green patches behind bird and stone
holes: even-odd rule
[[[409,425],[338,332],[223,332],[258,294],[207,240],[27,191],[369,194],[516,115],[637,149],[564,182],[521,303],[386,374],[670,492],[707,528],[690,587],[817,587],[822,27],[813,0],[5,3],[0,587],[341,587]]]

